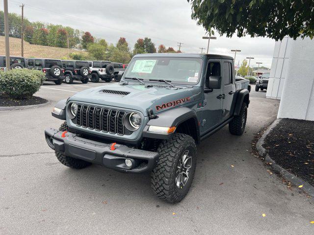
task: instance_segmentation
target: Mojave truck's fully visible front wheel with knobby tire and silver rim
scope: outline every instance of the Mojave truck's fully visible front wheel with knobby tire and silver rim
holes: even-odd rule
[[[195,173],[196,144],[192,137],[175,133],[157,149],[159,159],[151,173],[152,188],[159,199],[180,202],[187,194]]]

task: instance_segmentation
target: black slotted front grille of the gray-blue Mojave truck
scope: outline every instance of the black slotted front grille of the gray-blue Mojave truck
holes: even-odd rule
[[[110,134],[131,135],[123,119],[127,112],[78,104],[77,125]]]

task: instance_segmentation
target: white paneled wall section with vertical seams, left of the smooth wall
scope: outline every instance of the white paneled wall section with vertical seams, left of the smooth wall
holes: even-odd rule
[[[285,37],[275,43],[273,59],[269,74],[267,98],[280,99],[285,84],[289,55],[293,39]]]

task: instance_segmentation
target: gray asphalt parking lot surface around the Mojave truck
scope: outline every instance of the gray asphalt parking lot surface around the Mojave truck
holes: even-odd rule
[[[225,127],[199,145],[192,187],[172,205],[156,198],[149,174],[70,169],[46,144],[44,129],[62,123],[53,105],[101,85],[45,83],[36,95],[48,106],[0,112],[0,234],[313,234],[313,199],[288,190],[251,154],[279,107],[265,91],[252,87],[243,136]]]

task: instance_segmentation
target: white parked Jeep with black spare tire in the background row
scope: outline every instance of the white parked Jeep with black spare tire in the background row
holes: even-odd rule
[[[99,79],[110,82],[113,78],[114,68],[109,61],[89,61],[91,81],[99,82]]]

